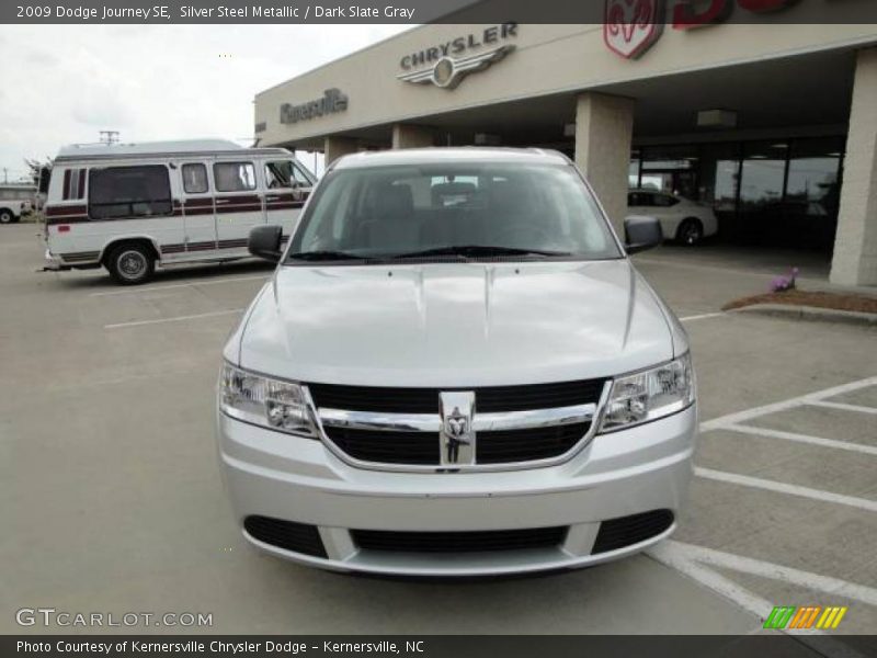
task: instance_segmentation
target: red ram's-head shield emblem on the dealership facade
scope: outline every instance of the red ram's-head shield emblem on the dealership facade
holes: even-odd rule
[[[663,32],[665,4],[667,0],[606,0],[606,46],[628,59],[641,56]]]

